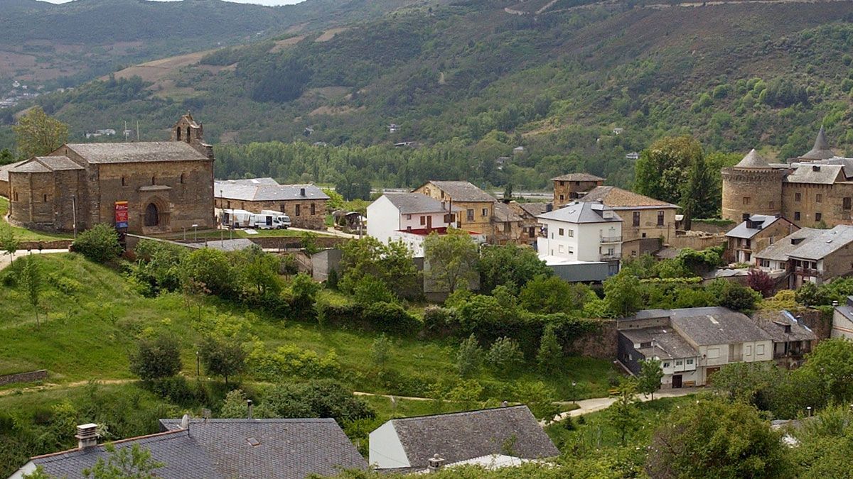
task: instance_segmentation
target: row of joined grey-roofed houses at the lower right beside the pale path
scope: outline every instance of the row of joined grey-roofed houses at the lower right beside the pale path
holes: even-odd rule
[[[722,307],[647,309],[617,321],[618,361],[638,374],[641,361],[661,361],[664,388],[708,384],[734,362],[796,366],[817,337],[791,315],[757,319]]]

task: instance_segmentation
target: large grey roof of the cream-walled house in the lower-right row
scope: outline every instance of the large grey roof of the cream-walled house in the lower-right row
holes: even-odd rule
[[[771,339],[769,333],[746,315],[719,306],[671,309],[670,322],[700,346]]]

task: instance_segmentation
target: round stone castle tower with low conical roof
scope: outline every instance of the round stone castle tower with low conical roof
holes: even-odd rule
[[[770,166],[754,149],[722,169],[722,218],[742,222],[751,215],[780,215],[785,170]]]

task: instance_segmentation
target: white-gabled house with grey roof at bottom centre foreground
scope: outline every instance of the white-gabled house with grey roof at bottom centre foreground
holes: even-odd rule
[[[370,433],[368,460],[377,470],[406,473],[559,455],[530,409],[514,406],[391,419]]]

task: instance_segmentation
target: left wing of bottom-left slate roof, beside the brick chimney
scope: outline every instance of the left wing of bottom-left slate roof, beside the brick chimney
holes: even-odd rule
[[[198,442],[186,431],[173,431],[118,441],[115,447],[132,447],[135,444],[151,451],[152,459],[164,463],[163,467],[156,470],[158,477],[165,479],[222,477],[218,474],[211,458],[200,450]],[[101,458],[107,459],[107,452],[102,444],[86,449],[72,449],[63,453],[38,456],[32,459],[32,463],[42,466],[44,472],[50,476],[76,479],[84,477],[83,470],[92,467]]]

